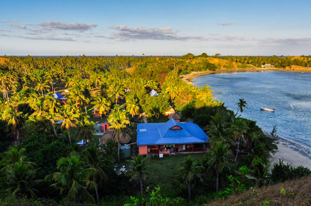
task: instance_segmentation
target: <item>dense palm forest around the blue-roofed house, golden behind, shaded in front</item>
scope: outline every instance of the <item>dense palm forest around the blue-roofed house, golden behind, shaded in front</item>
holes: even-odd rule
[[[207,85],[193,87],[179,78],[264,63],[310,67],[310,61],[219,54],[1,58],[1,204],[195,205],[310,174],[283,163],[269,173],[276,130],[263,133],[256,122],[239,117],[247,107],[243,99],[237,100],[237,111],[228,111]],[[67,104],[61,105],[52,93],[65,89]],[[153,89],[157,98],[149,95]],[[157,159],[136,154],[120,160],[120,141],[128,134],[135,142],[136,123],[146,117],[158,121],[170,107],[204,128],[211,149],[198,159],[170,157],[176,173],[164,170],[160,177],[152,174]],[[91,117],[93,111],[100,117]],[[115,138],[97,146],[94,122],[100,119],[111,124]],[[122,165],[127,172],[120,172]],[[280,179],[284,168],[288,176]]]

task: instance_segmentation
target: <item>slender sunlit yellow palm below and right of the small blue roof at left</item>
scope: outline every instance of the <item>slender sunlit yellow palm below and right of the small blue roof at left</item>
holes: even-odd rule
[[[61,128],[65,127],[68,132],[69,142],[72,145],[72,140],[70,139],[70,127],[76,127],[75,120],[79,115],[72,112],[72,108],[69,105],[65,105],[63,110],[61,111],[61,118],[63,119],[63,123],[61,124]]]

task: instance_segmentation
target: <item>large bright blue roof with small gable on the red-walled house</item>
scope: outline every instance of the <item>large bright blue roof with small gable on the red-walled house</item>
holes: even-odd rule
[[[137,126],[137,144],[195,144],[208,139],[204,131],[193,122],[177,122],[169,119],[165,123],[145,123]]]

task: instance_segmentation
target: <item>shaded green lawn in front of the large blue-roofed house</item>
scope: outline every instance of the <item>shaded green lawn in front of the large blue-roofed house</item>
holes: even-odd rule
[[[149,168],[147,172],[147,183],[151,187],[160,185],[164,187],[171,185],[175,181],[175,176],[178,175],[178,168],[182,166],[184,157],[191,155],[192,159],[204,159],[204,153],[186,154],[186,155],[164,155],[163,158],[155,157],[154,159],[147,159]]]

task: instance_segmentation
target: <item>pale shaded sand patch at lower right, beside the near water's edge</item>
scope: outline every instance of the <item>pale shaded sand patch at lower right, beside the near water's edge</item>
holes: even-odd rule
[[[277,150],[275,155],[272,155],[272,158],[270,159],[272,161],[271,167],[273,166],[273,163],[279,162],[279,159],[282,159],[283,163],[290,163],[294,167],[302,165],[303,167],[311,170],[311,159],[309,157],[305,157],[299,152],[292,150],[283,144],[277,144],[277,147],[279,150]]]

